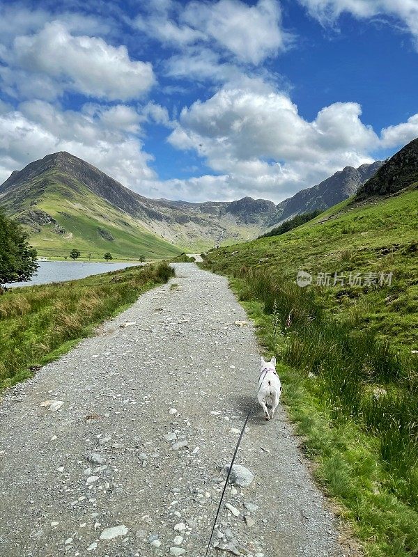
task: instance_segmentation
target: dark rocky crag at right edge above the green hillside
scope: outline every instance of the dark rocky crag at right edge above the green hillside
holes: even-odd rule
[[[357,191],[356,201],[394,194],[418,182],[418,138],[405,145]]]

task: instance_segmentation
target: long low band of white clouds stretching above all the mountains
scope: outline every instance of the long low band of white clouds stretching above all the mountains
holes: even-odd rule
[[[336,103],[309,122],[286,95],[261,84],[224,88],[184,109],[176,124],[155,103],[138,110],[86,104],[80,112],[40,100],[17,110],[0,103],[0,182],[34,159],[66,150],[146,196],[203,201],[250,195],[278,202],[347,164],[372,162],[376,148],[402,146],[418,135],[418,115],[382,130],[380,141],[360,116],[357,104]],[[171,144],[199,153],[214,175],[159,180],[139,139],[149,121],[176,125]]]

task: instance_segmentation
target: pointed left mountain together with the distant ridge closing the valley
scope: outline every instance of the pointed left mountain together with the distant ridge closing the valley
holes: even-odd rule
[[[252,198],[232,203],[148,199],[68,152],[13,172],[0,186],[0,204],[31,230],[38,251],[49,255],[63,255],[77,244],[89,252],[105,249],[114,255],[117,248],[121,256],[148,251],[152,256],[155,236],[158,253],[166,242],[207,249],[226,238],[256,237],[276,212],[271,201]],[[178,253],[173,246],[169,251]]]

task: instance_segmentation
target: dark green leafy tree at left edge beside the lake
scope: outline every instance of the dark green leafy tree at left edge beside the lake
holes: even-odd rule
[[[0,285],[29,281],[36,269],[36,249],[20,224],[0,212]]]

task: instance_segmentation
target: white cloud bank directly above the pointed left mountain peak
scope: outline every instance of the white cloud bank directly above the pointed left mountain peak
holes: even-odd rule
[[[1,107],[0,107],[1,108]],[[0,111],[0,182],[48,153],[65,150],[108,173],[123,185],[146,190],[157,180],[142,150],[137,125],[141,114],[130,107],[86,107],[63,111],[44,101],[28,101],[18,110]],[[132,128],[132,126],[134,128]]]

